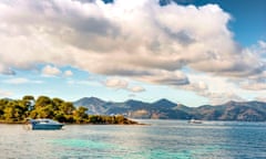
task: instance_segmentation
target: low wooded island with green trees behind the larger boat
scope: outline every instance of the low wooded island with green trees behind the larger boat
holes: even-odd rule
[[[88,108],[75,107],[61,98],[27,95],[22,99],[0,99],[0,123],[23,124],[28,118],[50,118],[63,124],[137,125],[123,115],[89,115]]]

